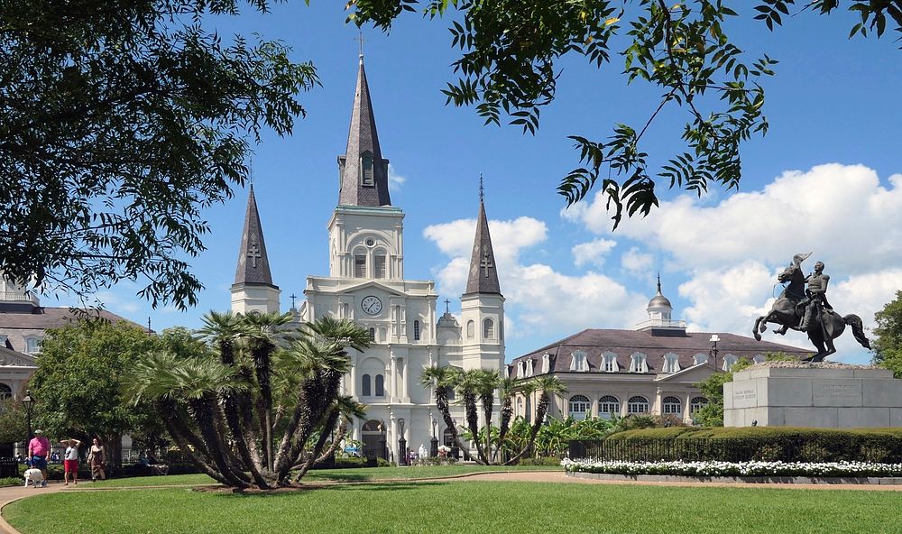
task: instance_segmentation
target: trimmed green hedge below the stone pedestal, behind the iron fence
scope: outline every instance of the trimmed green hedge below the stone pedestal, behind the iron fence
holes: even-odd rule
[[[902,463],[902,428],[649,428],[571,442],[570,457],[617,461]]]

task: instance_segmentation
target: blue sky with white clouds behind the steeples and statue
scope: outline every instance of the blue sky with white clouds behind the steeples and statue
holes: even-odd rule
[[[326,224],[354,97],[357,31],[337,2],[245,11],[207,23],[223,36],[260,32],[285,41],[294,60],[313,61],[323,84],[300,97],[308,116],[294,134],[264,133],[253,159],[272,275],[288,308],[308,274],[327,273]],[[614,123],[641,126],[657,106],[660,91],[628,86],[619,56],[602,70],[562,60],[557,99],[531,136],[445,106],[440,89],[456,59],[446,21],[407,14],[388,35],[364,29],[382,154],[395,179],[392,204],[406,214],[407,277],[436,280],[440,299],[459,310],[482,172],[508,299],[509,359],[585,327],[643,320],[658,270],[676,318],[696,330],[748,335],[769,307],[776,272],[798,252],[814,252],[805,269],[818,259],[827,264],[834,308],[870,324],[902,288],[902,52],[886,38],[846,39],[854,23],[846,14],[800,14],[776,32],[749,18],[728,32],[741,48],[780,63],[765,80],[770,132],[744,146],[741,190],[713,189],[699,199],[660,189],[660,210],[614,233],[603,201],[590,195],[563,211],[555,188],[577,163],[566,135],[601,139]],[[644,141],[653,161],[682,151],[683,119],[669,110],[658,117]],[[150,317],[155,329],[196,327],[207,310],[228,308],[246,196],[239,190],[207,211],[208,250],[191,261],[206,286],[198,308],[151,309],[127,283],[100,295],[106,307],[136,322]],[[839,359],[869,358],[844,337]],[[801,336],[765,338],[805,345]]]

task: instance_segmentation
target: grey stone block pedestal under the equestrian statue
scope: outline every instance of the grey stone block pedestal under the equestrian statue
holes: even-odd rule
[[[766,362],[723,384],[723,426],[902,427],[902,380],[870,365]]]

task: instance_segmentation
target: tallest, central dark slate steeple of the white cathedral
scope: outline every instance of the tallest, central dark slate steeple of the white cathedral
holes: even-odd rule
[[[338,204],[342,206],[390,206],[389,161],[382,159],[376,119],[370,102],[370,88],[366,84],[364,54],[360,54],[357,88],[351,110],[351,127],[347,135],[344,156],[338,156],[341,180]]]

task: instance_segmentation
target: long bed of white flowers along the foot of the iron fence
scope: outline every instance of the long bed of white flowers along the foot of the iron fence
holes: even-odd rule
[[[902,464],[868,462],[617,462],[564,458],[566,471],[603,474],[672,474],[677,476],[902,476]]]

